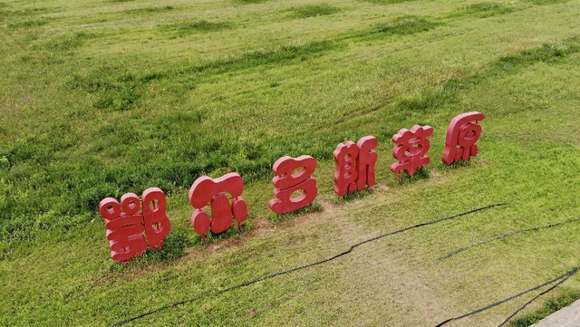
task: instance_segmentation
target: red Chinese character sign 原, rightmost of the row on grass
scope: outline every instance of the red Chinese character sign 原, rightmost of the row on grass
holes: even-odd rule
[[[443,162],[450,165],[460,160],[469,161],[478,155],[478,142],[481,136],[481,125],[478,121],[486,116],[478,111],[460,114],[449,123],[445,138]]]

